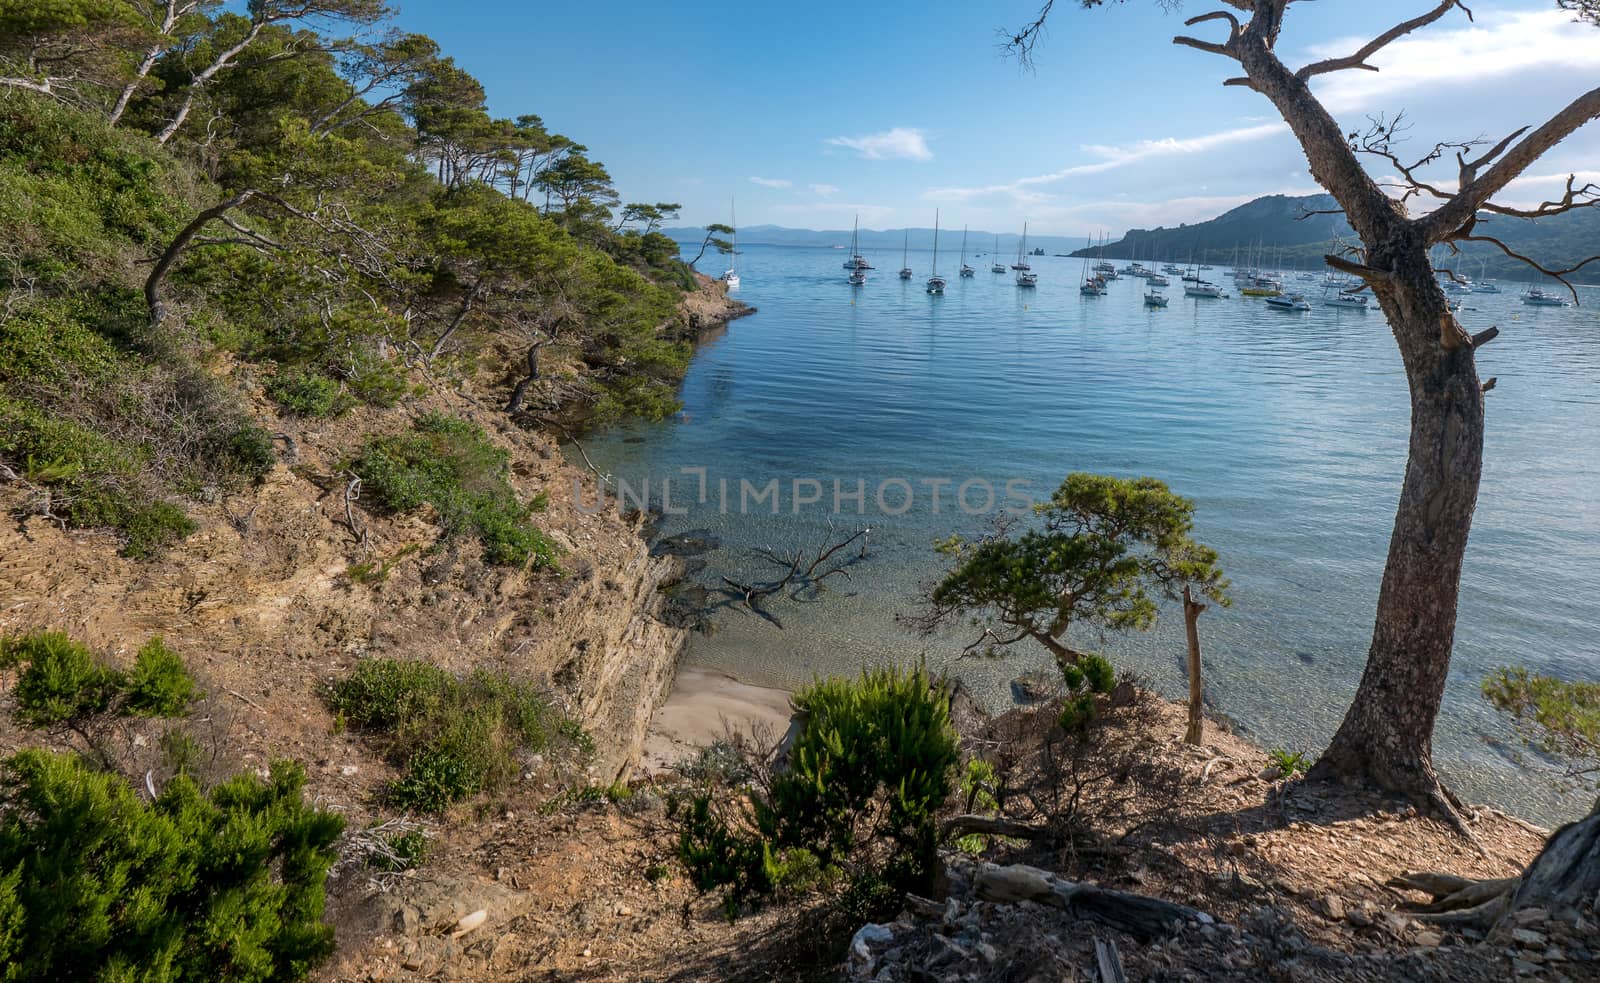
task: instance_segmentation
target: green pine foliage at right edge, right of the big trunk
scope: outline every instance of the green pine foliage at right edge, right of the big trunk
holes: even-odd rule
[[[1600,772],[1600,684],[1507,666],[1483,680],[1483,696],[1510,714],[1531,746],[1563,759],[1571,775]]]

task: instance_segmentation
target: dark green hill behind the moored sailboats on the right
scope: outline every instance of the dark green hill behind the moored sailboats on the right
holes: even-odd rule
[[[1229,263],[1235,251],[1243,256],[1251,247],[1266,251],[1266,261],[1285,267],[1322,267],[1330,240],[1339,235],[1354,240],[1355,234],[1339,215],[1315,215],[1338,208],[1333,195],[1267,195],[1224,211],[1206,223],[1178,226],[1176,229],[1130,229],[1117,242],[1106,243],[1104,255],[1112,259],[1162,259],[1200,263]],[[1485,215],[1480,229],[1499,235],[1506,245],[1544,263],[1546,266],[1571,266],[1600,253],[1600,210],[1570,211],[1547,219],[1515,219]],[[1467,275],[1480,271],[1491,277],[1514,280],[1539,279],[1530,267],[1506,256],[1490,243],[1462,243],[1462,255],[1437,255],[1438,266],[1461,269]],[[1074,256],[1099,255],[1098,248],[1078,248]],[[1600,263],[1582,271],[1576,282],[1600,283]]]

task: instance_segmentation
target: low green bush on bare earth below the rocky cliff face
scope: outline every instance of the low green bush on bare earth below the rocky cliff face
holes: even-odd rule
[[[389,759],[405,768],[389,797],[418,812],[504,788],[526,754],[592,751],[542,693],[499,672],[456,679],[429,663],[362,660],[328,690],[328,706],[386,743]]]

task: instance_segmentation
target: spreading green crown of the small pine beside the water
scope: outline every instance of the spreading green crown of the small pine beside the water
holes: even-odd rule
[[[1034,639],[1066,671],[1082,658],[1069,629],[1144,631],[1155,624],[1152,592],[1176,599],[1189,586],[1230,604],[1216,551],[1189,535],[1194,503],[1158,479],[1074,472],[1035,512],[1038,527],[938,546],[955,565],[917,620],[925,631],[970,616],[981,628],[974,647]]]

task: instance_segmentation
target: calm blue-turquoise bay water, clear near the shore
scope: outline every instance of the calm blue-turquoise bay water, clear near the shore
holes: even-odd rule
[[[931,544],[981,533],[984,482],[1034,498],[1070,471],[1152,474],[1195,500],[1197,536],[1221,551],[1235,604],[1202,620],[1211,703],[1267,746],[1320,749],[1360,677],[1373,605],[1405,467],[1408,400],[1394,339],[1379,312],[1315,307],[1293,314],[1253,299],[1182,296],[1146,309],[1142,280],[1107,296],[1077,293],[1080,261],[1035,258],[1040,287],[971,258],[976,279],[949,277],[944,296],[896,279],[899,256],[869,256],[862,288],[845,283],[843,255],[824,248],[744,247],[739,296],[760,312],[733,322],[696,355],[683,413],[586,440],[589,456],[634,488],[650,480],[664,535],[709,530],[720,546],[694,573],[773,573],[757,551],[814,544],[829,522],[870,524],[870,556],[850,581],[813,602],[773,602],[778,628],[742,608],[715,612],[690,661],[747,682],[794,687],[816,672],[925,655],[950,666],[989,703],[1045,666],[1037,647],[1003,660],[958,658],[963,637],[920,637],[896,623],[942,568]],[[1010,263],[1010,258],[1003,258]],[[1222,269],[1211,271],[1222,282]],[[1594,676],[1600,628],[1600,290],[1584,307],[1536,309],[1509,293],[1462,298],[1470,331],[1499,325],[1480,354],[1498,376],[1488,397],[1483,487],[1461,597],[1456,658],[1435,738],[1437,760],[1469,799],[1554,820],[1576,799],[1530,781],[1517,741],[1478,696],[1493,666],[1520,661]],[[1232,287],[1227,287],[1232,291]],[[1304,285],[1315,298],[1315,285]],[[698,503],[704,467],[707,501]],[[728,482],[728,509],[718,501]],[[739,482],[771,500],[739,509]],[[821,501],[794,506],[795,479]],[[830,516],[834,480],[861,480],[866,516]],[[883,514],[875,490],[904,479],[910,509]],[[939,487],[934,512],[928,480]],[[888,511],[904,500],[883,485]],[[802,498],[814,492],[802,485]],[[1018,490],[1013,485],[1013,490]],[[586,493],[586,500],[592,492]],[[1086,642],[1101,644],[1090,637]],[[1104,639],[1115,660],[1179,695],[1182,621]],[[1534,762],[1536,764],[1536,762]]]

